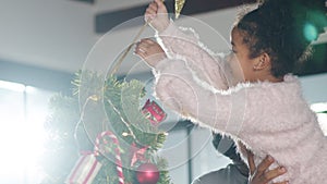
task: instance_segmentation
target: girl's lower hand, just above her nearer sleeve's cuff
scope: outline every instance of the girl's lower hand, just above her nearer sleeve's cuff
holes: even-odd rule
[[[167,58],[160,45],[149,38],[141,39],[141,41],[136,44],[134,52],[150,66],[155,66],[159,61]]]

